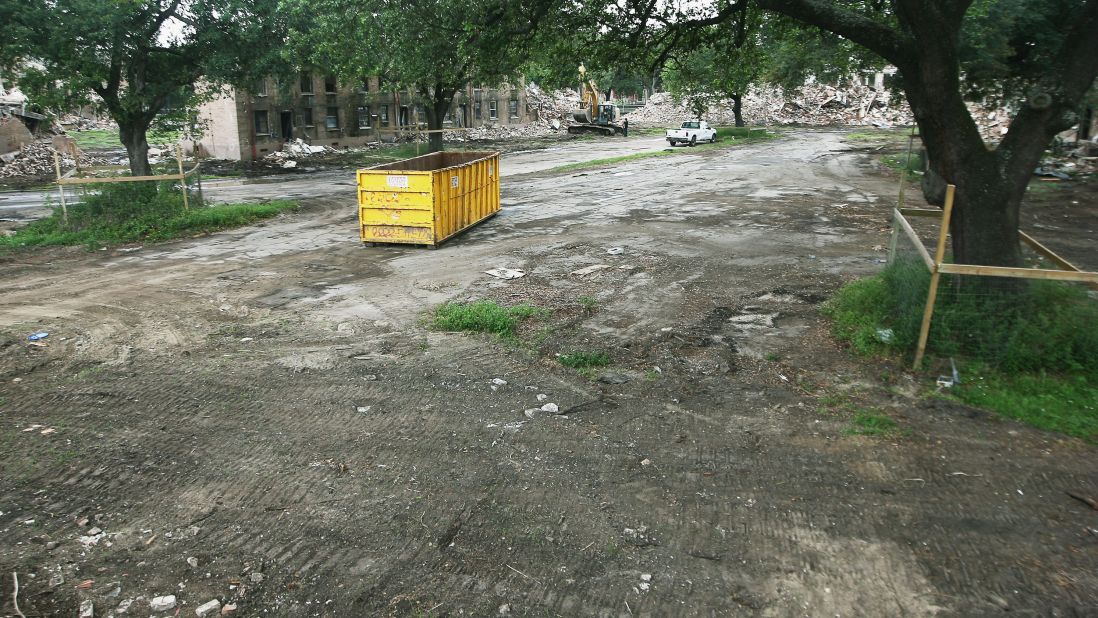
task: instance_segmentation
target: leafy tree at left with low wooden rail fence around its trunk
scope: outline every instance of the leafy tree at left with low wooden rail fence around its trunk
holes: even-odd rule
[[[281,44],[265,0],[9,0],[15,36],[41,63],[20,82],[46,106],[93,103],[119,124],[134,176],[148,176],[149,126],[171,105],[261,75]]]

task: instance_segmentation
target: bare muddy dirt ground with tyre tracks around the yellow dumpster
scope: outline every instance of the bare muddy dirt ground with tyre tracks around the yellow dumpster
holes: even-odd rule
[[[1065,493],[1098,495],[1098,450],[829,335],[888,245],[872,153],[534,165],[434,251],[363,248],[348,178],[249,228],[0,258],[0,615],[14,572],[26,616],[1098,616],[1098,512]],[[1028,221],[1098,267],[1095,193],[1043,194]],[[469,299],[552,315],[425,326]]]

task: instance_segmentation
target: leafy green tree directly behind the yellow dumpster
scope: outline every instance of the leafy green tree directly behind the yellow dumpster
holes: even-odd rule
[[[381,75],[425,102],[427,128],[442,128],[453,97],[469,83],[518,77],[525,40],[548,4],[506,0],[283,0],[293,18],[294,59],[349,80]],[[442,149],[430,133],[430,149]]]

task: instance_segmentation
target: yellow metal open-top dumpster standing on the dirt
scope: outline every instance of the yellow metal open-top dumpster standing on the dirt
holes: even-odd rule
[[[432,153],[358,170],[363,243],[437,246],[500,212],[500,153]]]

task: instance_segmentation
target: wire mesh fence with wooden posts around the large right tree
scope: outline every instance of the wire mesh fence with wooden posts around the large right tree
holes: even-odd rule
[[[881,341],[916,351],[918,363],[925,329],[926,353],[939,362],[963,358],[1004,371],[1098,371],[1098,292],[1090,288],[1098,274],[1045,279],[1063,260],[1029,245],[1023,262],[1031,270],[1012,277],[945,272],[953,262],[950,252],[930,257],[927,249],[940,237],[944,217],[894,214],[888,267],[882,273],[889,327],[878,330]],[[1002,274],[1007,269],[983,270]],[[928,307],[932,290],[935,299]]]

